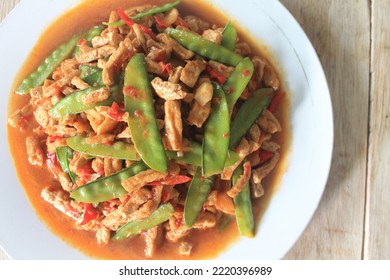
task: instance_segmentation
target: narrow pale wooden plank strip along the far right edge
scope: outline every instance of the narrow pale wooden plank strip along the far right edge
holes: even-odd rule
[[[390,5],[372,1],[370,146],[365,259],[390,259]]]

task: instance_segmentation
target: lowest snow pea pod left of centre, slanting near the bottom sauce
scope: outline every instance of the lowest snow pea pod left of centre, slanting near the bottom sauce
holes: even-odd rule
[[[168,221],[169,218],[172,217],[174,211],[172,204],[169,202],[161,204],[152,214],[150,214],[149,217],[144,220],[128,222],[119,228],[111,239],[123,240],[131,236],[138,235],[145,230],[152,229],[155,226]]]

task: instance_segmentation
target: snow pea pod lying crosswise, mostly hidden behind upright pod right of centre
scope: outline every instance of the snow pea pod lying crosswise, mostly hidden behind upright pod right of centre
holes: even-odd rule
[[[189,141],[188,147],[189,151],[186,151],[183,156],[178,156],[177,152],[166,151],[168,158],[173,159],[177,162],[192,164],[195,166],[202,166],[202,145]],[[240,159],[240,156],[233,150],[228,151],[228,155],[225,162],[226,166],[231,166],[235,164]]]

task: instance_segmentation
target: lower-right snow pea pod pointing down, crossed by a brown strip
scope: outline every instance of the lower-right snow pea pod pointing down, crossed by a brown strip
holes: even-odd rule
[[[240,164],[233,173],[233,185],[238,178],[244,173],[242,164]],[[241,235],[247,237],[254,236],[255,222],[253,218],[253,209],[251,201],[251,193],[249,189],[249,182],[234,199],[234,209],[236,211],[236,221],[238,230]]]

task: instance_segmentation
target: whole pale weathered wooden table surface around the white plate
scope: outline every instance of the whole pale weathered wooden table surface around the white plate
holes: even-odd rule
[[[0,19],[18,2],[2,0]],[[281,2],[320,57],[335,119],[324,196],[286,259],[390,259],[390,3]]]

